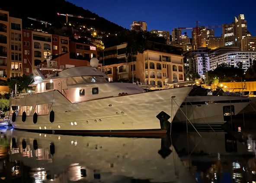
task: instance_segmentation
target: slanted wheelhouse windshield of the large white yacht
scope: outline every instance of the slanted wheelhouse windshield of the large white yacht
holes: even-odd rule
[[[67,86],[88,84],[95,82],[107,82],[103,76],[75,76],[67,78]]]

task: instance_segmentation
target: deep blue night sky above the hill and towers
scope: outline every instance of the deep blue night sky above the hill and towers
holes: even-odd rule
[[[171,31],[176,27],[216,26],[231,23],[244,14],[247,29],[256,36],[256,0],[66,0],[88,9],[124,28],[132,21],[147,23],[152,29]],[[83,16],[83,15],[81,15]],[[222,28],[214,28],[221,36]],[[183,29],[191,37],[191,29]]]

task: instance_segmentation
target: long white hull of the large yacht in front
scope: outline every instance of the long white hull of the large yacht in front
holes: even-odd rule
[[[58,90],[25,95],[11,98],[11,105],[32,105],[33,112],[24,122],[22,116],[16,116],[11,123],[15,129],[50,133],[166,133],[157,115],[163,111],[171,122],[191,89],[172,88],[78,103],[71,103]],[[33,123],[34,106],[49,103],[54,121],[50,122],[48,114],[38,115]]]

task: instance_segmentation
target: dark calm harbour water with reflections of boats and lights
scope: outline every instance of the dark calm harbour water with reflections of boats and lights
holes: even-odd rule
[[[2,128],[0,182],[252,183],[254,117],[237,117],[222,131],[199,131],[202,138],[179,126],[173,126],[171,138],[69,136]]]

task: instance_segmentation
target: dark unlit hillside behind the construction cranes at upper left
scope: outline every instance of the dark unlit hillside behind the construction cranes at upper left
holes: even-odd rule
[[[14,5],[15,4],[15,5]],[[32,8],[33,7],[33,8]],[[90,12],[90,10],[83,9],[72,3],[69,3],[65,0],[44,0],[40,1],[30,1],[30,0],[21,0],[21,1],[5,1],[0,4],[0,9],[9,11],[10,16],[21,18],[23,28],[33,28],[34,26],[42,26],[45,28],[45,25],[41,25],[40,22],[28,19],[27,17],[32,17],[35,19],[43,20],[45,22],[51,23],[48,25],[47,31],[50,33],[58,33],[58,29],[64,26],[66,23],[66,16],[58,16],[58,13],[63,14],[72,14],[77,16],[96,18],[96,20],[90,19],[80,19],[75,17],[68,17],[68,21],[77,28],[79,25],[85,25],[86,28],[95,28],[99,32],[106,33],[116,33],[124,30],[123,27],[110,22],[102,17],[99,17],[97,14]],[[36,27],[38,28],[38,27]]]

